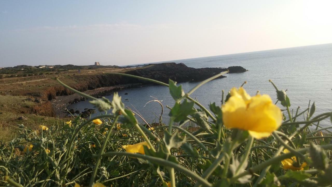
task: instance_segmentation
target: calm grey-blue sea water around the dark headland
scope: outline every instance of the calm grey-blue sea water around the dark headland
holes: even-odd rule
[[[227,93],[232,87],[240,87],[244,81],[248,82],[244,88],[250,95],[260,91],[261,94],[269,94],[272,100],[276,101],[276,91],[268,81],[271,79],[279,89],[288,90],[287,94],[294,113],[298,106],[300,106],[299,111],[306,109],[309,100],[311,103],[315,101],[314,115],[332,111],[332,44],[168,62],[184,63],[193,68],[242,66],[249,70],[245,73],[227,74],[227,78],[213,80],[192,94],[193,98],[197,98],[207,108],[210,102],[221,104],[221,90]],[[188,92],[198,83],[181,84],[184,91]],[[164,105],[162,117],[164,121],[168,121],[169,109],[165,106],[174,105],[168,88],[156,85],[126,89],[118,93],[126,106],[136,108],[150,122],[156,118],[156,115],[159,116],[161,107],[157,102],[150,102],[144,107],[145,103],[153,100],[151,96],[162,100]],[[125,95],[125,93],[128,94]],[[113,95],[106,97],[111,100]],[[81,111],[92,107],[88,101],[71,105],[74,110]],[[331,125],[329,120],[321,124],[322,126]]]

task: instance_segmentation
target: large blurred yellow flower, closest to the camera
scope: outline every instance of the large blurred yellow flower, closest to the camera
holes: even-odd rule
[[[232,88],[222,105],[222,120],[227,128],[248,130],[254,138],[268,137],[282,122],[282,113],[269,95],[250,96],[240,87]]]

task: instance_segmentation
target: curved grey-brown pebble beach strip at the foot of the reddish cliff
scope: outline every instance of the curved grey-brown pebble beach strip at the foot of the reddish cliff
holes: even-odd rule
[[[84,94],[88,94],[91,96],[100,97],[110,92],[115,92],[118,90],[128,89],[128,88],[135,88],[135,87],[142,87],[148,86],[145,84],[126,84],[126,85],[117,85],[117,86],[109,86],[109,87],[101,87],[96,88],[93,90],[84,91]],[[84,97],[80,96],[79,94],[70,94],[70,95],[59,95],[56,96],[54,99],[50,100],[51,106],[55,112],[57,117],[66,117],[68,116],[68,107],[76,102],[86,100]]]

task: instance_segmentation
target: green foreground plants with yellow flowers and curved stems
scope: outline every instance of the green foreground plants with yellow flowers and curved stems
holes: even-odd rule
[[[218,72],[187,93],[171,79],[167,84],[144,77],[142,72],[143,77],[108,73],[106,76],[169,87],[174,99],[170,120],[154,124],[138,123],[136,117],[144,116],[126,108],[118,94],[112,100],[96,98],[75,90],[60,77],[56,81],[67,93],[89,98],[103,114],[59,119],[34,128],[16,125],[15,137],[0,145],[0,174],[6,176],[0,183],[331,186],[332,127],[323,128],[320,121],[332,122],[332,112],[316,114],[314,102],[304,110],[292,110],[292,98],[271,80],[276,95],[250,96],[243,83],[222,92],[221,106],[210,103],[205,108],[191,97],[200,86],[227,72]],[[163,80],[162,76],[155,78]],[[185,127],[188,122],[193,125]]]

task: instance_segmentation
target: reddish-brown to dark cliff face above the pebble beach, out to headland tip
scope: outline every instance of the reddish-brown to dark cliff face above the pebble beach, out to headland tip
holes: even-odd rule
[[[229,73],[239,73],[245,72],[246,69],[240,66],[229,67]],[[220,72],[226,71],[227,68],[189,68],[186,65],[180,63],[162,63],[147,65],[142,68],[136,68],[134,70],[129,70],[124,72],[125,74],[136,75],[140,77],[150,78],[158,80],[164,83],[168,83],[168,79],[172,79],[178,83],[180,82],[195,82],[203,81],[210,78]],[[219,78],[224,78],[225,76],[220,76]],[[96,74],[96,75],[76,75],[70,78],[60,78],[60,80],[66,79],[70,87],[84,92],[87,90],[93,90],[101,87],[110,87],[116,85],[126,85],[126,84],[151,84],[150,82],[143,82],[137,79],[111,75],[111,74]],[[71,81],[75,80],[75,81]],[[45,102],[33,108],[33,113],[47,116],[54,116],[55,112],[48,100],[54,99],[59,95],[70,95],[73,94],[72,91],[62,87],[61,85],[52,86],[47,88],[41,93],[31,93],[35,97],[45,99]]]

